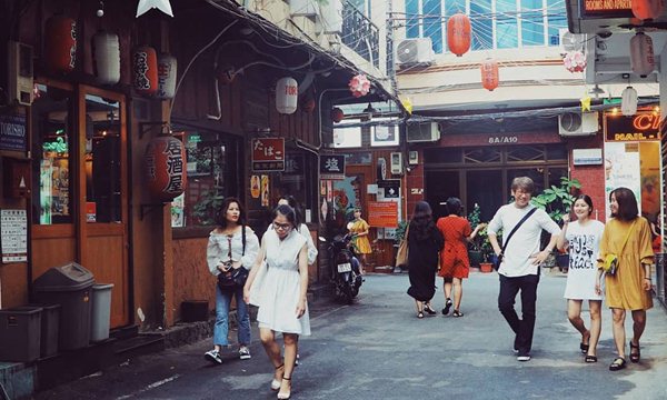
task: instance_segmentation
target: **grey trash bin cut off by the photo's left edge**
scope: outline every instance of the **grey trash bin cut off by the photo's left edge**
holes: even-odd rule
[[[0,310],[0,360],[30,362],[39,358],[40,307]]]

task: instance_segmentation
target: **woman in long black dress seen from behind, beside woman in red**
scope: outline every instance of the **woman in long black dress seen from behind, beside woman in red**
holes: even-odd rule
[[[424,311],[436,313],[430,307],[430,299],[436,294],[438,251],[444,243],[445,239],[434,222],[430,206],[426,201],[417,202],[408,231],[408,294],[415,299],[417,318],[424,318]]]

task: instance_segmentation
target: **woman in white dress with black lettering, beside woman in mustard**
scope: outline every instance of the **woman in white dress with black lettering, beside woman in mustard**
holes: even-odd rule
[[[567,316],[570,323],[579,333],[581,342],[579,349],[586,354],[586,362],[597,362],[597,343],[600,338],[603,324],[600,307],[603,293],[596,289],[597,258],[600,239],[605,224],[590,219],[593,200],[586,194],[577,197],[573,210],[577,220],[569,222],[569,214],[563,217],[564,226],[558,237],[558,249],[569,250],[569,268],[565,298],[567,301]],[[581,319],[581,303],[588,300],[590,310],[590,330]]]

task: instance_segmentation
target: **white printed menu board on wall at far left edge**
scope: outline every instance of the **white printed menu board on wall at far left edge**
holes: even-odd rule
[[[28,216],[26,210],[1,210],[2,262],[28,261]]]

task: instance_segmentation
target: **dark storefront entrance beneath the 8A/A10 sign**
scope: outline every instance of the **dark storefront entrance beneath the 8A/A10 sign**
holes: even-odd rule
[[[564,144],[428,149],[425,162],[425,197],[436,218],[445,216],[447,198],[458,197],[466,214],[477,203],[481,220],[489,221],[510,201],[514,178],[530,177],[539,193],[567,177]]]

